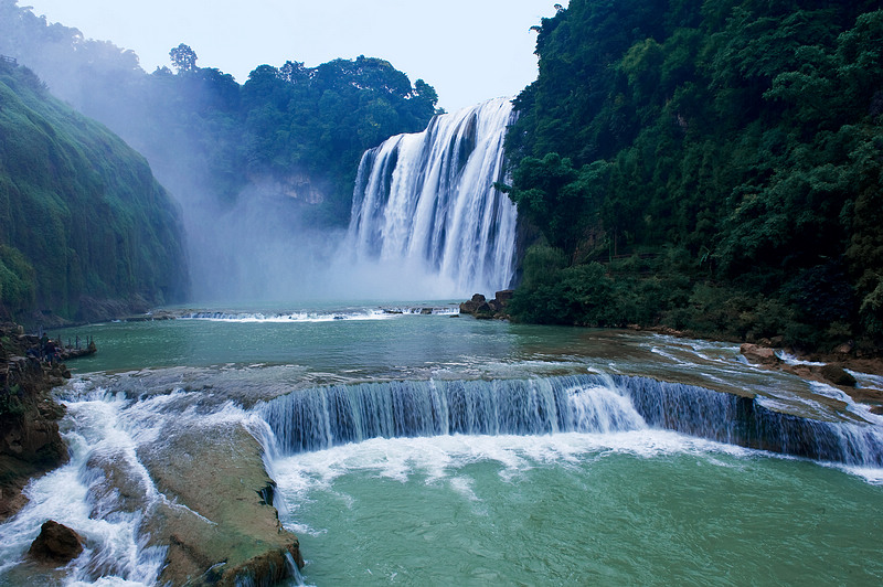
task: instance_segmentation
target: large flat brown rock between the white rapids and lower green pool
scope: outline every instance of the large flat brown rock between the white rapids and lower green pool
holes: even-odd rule
[[[206,440],[209,439],[209,440]],[[241,423],[182,425],[138,451],[166,503],[143,529],[166,546],[159,584],[275,585],[304,565],[272,501],[262,447]]]

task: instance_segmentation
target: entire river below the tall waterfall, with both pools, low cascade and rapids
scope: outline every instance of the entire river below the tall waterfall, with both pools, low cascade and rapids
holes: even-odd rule
[[[61,392],[71,463],[0,525],[0,585],[28,585],[20,561],[47,519],[89,547],[41,581],[153,584],[162,547],[137,512],[102,513],[91,467],[114,450],[152,487],[141,447],[209,420],[259,437],[310,585],[883,580],[883,421],[735,345],[438,302],[174,313],[57,333],[99,352]],[[742,404],[705,388],[816,418],[847,448],[829,461],[721,441]]]

